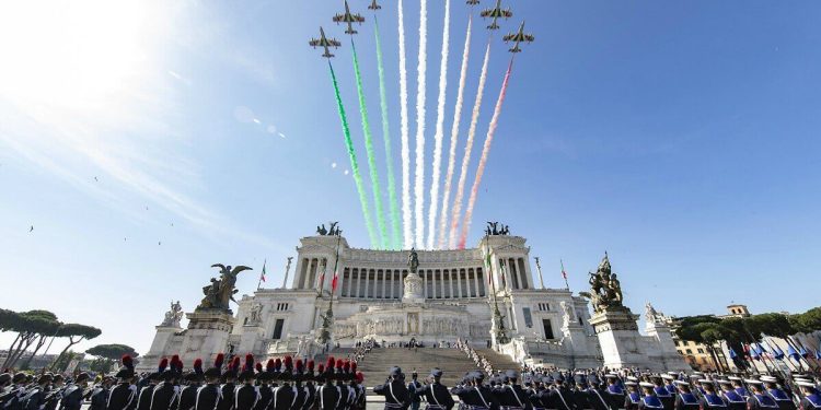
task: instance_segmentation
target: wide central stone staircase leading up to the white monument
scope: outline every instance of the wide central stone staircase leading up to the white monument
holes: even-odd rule
[[[476,351],[483,354],[496,370],[519,367],[508,356],[493,350],[477,349]],[[337,349],[332,354],[344,358],[346,353]],[[444,372],[442,383],[449,387],[452,387],[466,372],[477,370],[473,361],[458,349],[419,348],[414,352],[412,349],[403,348],[378,348],[371,350],[365,360],[359,362],[359,371],[365,374],[366,385],[369,387],[383,383],[391,366],[402,367],[408,380],[414,370],[418,372],[421,380],[428,376],[431,368],[439,367]]]

